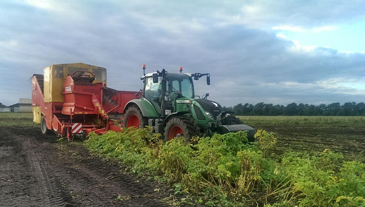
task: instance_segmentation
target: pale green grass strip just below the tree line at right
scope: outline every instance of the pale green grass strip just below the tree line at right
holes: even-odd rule
[[[237,116],[247,125],[341,124],[362,125],[362,116]]]

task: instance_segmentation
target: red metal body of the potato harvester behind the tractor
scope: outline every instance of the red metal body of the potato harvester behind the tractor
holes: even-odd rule
[[[64,102],[46,103],[38,78],[40,75],[32,77],[32,106],[40,106],[48,129],[70,140],[76,135],[71,133],[73,123],[82,124],[82,133],[77,134],[80,136],[90,132],[107,133],[109,130],[120,132],[121,128],[109,120],[108,113],[123,114],[128,101],[141,97],[141,92],[117,91],[107,88],[104,83],[92,83],[95,74],[76,71],[64,80]],[[107,91],[105,100],[104,90]]]

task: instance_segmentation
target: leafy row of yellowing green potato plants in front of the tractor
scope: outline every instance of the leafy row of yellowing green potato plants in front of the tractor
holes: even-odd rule
[[[365,206],[365,165],[330,150],[276,155],[276,138],[264,130],[257,131],[254,144],[247,144],[245,132],[188,145],[159,136],[149,128],[128,128],[91,133],[84,144],[207,206]]]

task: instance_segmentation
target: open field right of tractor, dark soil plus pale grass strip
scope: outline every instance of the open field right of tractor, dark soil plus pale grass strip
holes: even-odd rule
[[[326,148],[340,152],[345,159],[365,161],[365,117],[326,116],[240,116],[255,129],[277,133],[280,151],[307,153]]]

